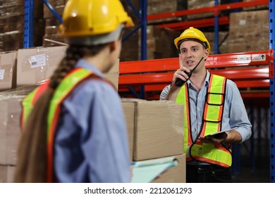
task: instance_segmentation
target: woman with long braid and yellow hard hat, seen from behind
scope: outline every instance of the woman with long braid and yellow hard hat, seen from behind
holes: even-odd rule
[[[66,57],[22,102],[15,182],[130,182],[121,101],[103,73],[132,26],[119,0],[68,1],[60,27]]]

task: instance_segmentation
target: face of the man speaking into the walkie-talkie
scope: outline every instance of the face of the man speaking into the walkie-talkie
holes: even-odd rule
[[[209,54],[208,49],[204,49],[204,46],[202,46],[200,42],[195,42],[193,40],[183,42],[180,46],[180,50],[181,53],[179,53],[179,58],[181,66],[188,69],[193,69],[202,57],[204,57],[205,60]],[[204,61],[200,63],[199,68],[202,67],[204,68]],[[198,68],[196,70],[198,70]]]

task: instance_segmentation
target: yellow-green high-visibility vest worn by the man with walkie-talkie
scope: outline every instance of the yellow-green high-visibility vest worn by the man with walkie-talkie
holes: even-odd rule
[[[204,104],[202,130],[199,136],[206,136],[214,132],[221,131],[222,116],[224,112],[224,100],[226,92],[226,77],[210,75],[209,87],[207,88],[207,98]],[[184,110],[184,147],[186,160],[200,160],[206,163],[230,167],[232,165],[232,155],[230,148],[223,144],[202,143],[202,141],[192,139],[192,128],[190,122],[190,101],[188,84],[181,87],[176,97],[176,103],[181,103]]]

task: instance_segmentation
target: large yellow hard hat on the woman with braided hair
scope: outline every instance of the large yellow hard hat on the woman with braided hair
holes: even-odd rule
[[[59,32],[64,37],[108,34],[121,24],[133,27],[119,0],[69,0],[63,11]]]

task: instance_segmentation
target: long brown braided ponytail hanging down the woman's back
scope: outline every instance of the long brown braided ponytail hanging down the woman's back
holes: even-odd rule
[[[14,182],[46,182],[47,180],[47,116],[54,89],[75,68],[84,56],[94,56],[106,44],[98,46],[69,46],[66,57],[50,78],[49,89],[40,96],[30,113],[18,146],[18,163]]]

